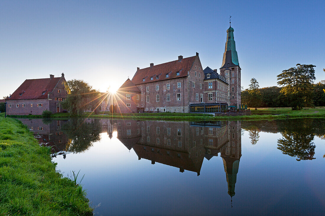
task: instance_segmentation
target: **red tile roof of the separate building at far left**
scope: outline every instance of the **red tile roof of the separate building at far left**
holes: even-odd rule
[[[46,99],[60,78],[26,79],[6,100]]]

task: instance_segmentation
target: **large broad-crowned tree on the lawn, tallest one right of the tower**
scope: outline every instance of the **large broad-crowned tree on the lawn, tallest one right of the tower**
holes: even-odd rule
[[[315,78],[315,65],[301,65],[283,70],[278,77],[278,84],[283,86],[284,94],[292,110],[301,110],[303,106],[313,104],[313,82]]]

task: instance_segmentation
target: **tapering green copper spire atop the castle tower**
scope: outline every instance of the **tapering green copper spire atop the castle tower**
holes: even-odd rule
[[[233,66],[239,66],[239,62],[238,62],[238,54],[236,51],[236,44],[234,40],[234,29],[231,28],[230,25],[229,29],[227,29],[227,41],[226,41],[225,53],[223,56],[221,68],[233,67]]]

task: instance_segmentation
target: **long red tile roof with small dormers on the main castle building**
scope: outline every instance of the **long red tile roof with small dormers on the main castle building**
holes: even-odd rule
[[[188,58],[183,58],[181,61],[175,60],[172,62],[139,69],[136,71],[136,74],[132,78],[132,82],[138,85],[142,83],[186,77],[187,72],[191,69],[194,63],[195,57],[196,55]],[[176,76],[176,72],[178,71],[180,72],[179,76]],[[166,77],[166,74],[169,74],[169,77]],[[156,76],[159,76],[159,78],[156,79]],[[150,80],[150,77],[153,77],[153,79]],[[145,81],[143,81],[144,78]]]

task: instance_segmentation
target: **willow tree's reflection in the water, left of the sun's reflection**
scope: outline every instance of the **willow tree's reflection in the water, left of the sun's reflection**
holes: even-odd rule
[[[71,144],[67,151],[83,152],[92,146],[93,142],[99,141],[101,124],[99,119],[92,119],[86,122],[85,119],[72,118],[67,124],[62,126]]]

